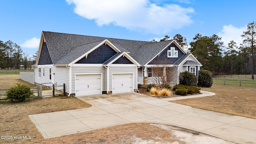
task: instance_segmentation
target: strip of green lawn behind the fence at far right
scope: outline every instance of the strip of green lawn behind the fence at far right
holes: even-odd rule
[[[212,78],[213,84],[256,87],[256,80],[238,79],[238,78]]]

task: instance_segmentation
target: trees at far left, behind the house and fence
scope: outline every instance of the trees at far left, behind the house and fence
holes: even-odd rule
[[[3,42],[0,40],[0,68],[1,69],[27,69],[36,60],[36,55],[32,57],[23,53],[20,46],[11,40]]]

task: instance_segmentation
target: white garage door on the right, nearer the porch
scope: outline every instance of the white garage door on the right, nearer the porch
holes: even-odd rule
[[[132,92],[132,74],[113,74],[112,93]]]

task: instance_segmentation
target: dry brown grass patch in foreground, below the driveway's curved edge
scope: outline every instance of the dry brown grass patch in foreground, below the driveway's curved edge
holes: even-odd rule
[[[101,128],[68,136],[49,138],[45,139],[42,143],[132,144],[134,143],[134,138],[152,140],[154,142],[179,142],[179,144],[185,144],[185,142],[172,135],[170,131],[164,130],[149,123],[122,124],[119,126]]]

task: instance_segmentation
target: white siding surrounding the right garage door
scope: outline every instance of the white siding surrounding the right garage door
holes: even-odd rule
[[[134,89],[137,88],[137,66],[110,66],[109,67],[109,90],[112,91],[112,74],[133,74]]]

